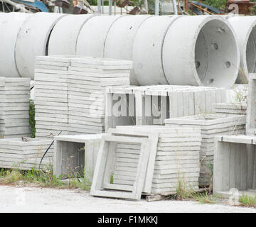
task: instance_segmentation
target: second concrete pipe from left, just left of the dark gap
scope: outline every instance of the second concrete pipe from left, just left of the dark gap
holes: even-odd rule
[[[33,79],[36,56],[47,55],[50,32],[66,16],[60,13],[35,13],[28,18],[18,33],[15,59],[21,77]]]

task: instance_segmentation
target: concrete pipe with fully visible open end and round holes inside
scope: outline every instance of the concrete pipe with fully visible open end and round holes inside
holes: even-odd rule
[[[232,87],[240,53],[230,23],[220,16],[182,16],[172,23],[163,45],[169,84]]]

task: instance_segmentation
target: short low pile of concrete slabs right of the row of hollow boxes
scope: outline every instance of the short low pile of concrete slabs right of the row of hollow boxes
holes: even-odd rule
[[[246,114],[247,104],[245,102],[238,102],[233,104],[223,103],[214,104],[216,114]]]

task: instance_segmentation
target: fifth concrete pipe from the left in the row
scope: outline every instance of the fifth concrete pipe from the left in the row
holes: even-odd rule
[[[134,37],[139,26],[149,17],[149,15],[123,16],[115,21],[107,34],[104,57],[132,60]],[[131,71],[130,84],[139,84],[134,70]]]

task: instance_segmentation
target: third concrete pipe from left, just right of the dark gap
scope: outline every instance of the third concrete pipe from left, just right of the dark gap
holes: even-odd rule
[[[69,15],[61,18],[50,33],[48,55],[75,55],[80,30],[92,16]]]

